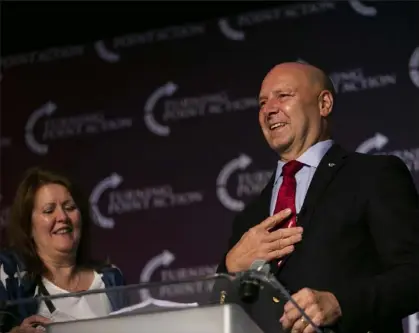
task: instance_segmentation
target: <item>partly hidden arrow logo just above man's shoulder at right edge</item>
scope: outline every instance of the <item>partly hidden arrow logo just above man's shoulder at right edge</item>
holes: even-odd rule
[[[382,149],[389,142],[389,138],[381,133],[375,133],[374,136],[362,142],[356,149],[359,153],[375,153],[376,155],[395,155],[406,164],[411,172],[419,171],[419,147],[411,149],[401,149],[394,151],[383,151]]]

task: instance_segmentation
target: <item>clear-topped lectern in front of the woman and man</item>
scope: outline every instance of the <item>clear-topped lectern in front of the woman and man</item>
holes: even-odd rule
[[[50,302],[55,312],[41,312],[52,321],[40,327],[47,333],[262,333],[237,300],[251,302],[255,294],[257,297],[258,288],[264,285],[289,299],[287,291],[273,276],[249,271],[22,299],[3,305],[1,310],[4,320],[8,307],[45,309],[42,305]],[[230,297],[232,294],[235,296]],[[69,298],[73,301],[83,298],[86,304],[98,304],[101,300],[102,313],[93,306],[92,311],[79,314],[77,318],[61,312],[60,308],[65,308]],[[103,300],[108,303],[106,311]]]

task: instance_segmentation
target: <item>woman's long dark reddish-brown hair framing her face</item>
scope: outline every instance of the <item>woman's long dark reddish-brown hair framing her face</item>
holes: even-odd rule
[[[47,184],[64,186],[70,192],[80,211],[82,223],[76,265],[78,267],[95,265],[90,258],[91,215],[88,200],[64,175],[39,167],[28,169],[17,188],[6,229],[8,247],[21,257],[29,274],[38,275],[45,271],[45,266],[37,254],[31,234],[35,195],[40,187]]]

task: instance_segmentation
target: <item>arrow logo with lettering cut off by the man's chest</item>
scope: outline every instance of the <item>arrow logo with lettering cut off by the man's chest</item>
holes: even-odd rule
[[[251,157],[241,154],[226,163],[218,174],[216,188],[218,200],[225,208],[231,211],[242,211],[245,207],[245,202],[241,199],[258,195],[272,176],[272,171],[244,172],[251,163]],[[234,198],[229,193],[228,183],[236,172],[238,172],[235,177],[237,187],[235,191],[236,198]]]

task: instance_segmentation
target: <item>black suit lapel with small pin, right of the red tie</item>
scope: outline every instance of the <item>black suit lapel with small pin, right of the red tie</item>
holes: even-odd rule
[[[307,228],[310,218],[317,207],[318,200],[333,180],[339,169],[343,166],[347,152],[339,145],[334,144],[324,155],[314,173],[308,188],[303,206],[301,207],[298,224]]]

